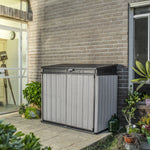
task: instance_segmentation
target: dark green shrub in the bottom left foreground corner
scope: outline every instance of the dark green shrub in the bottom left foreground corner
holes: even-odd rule
[[[42,148],[39,138],[33,133],[25,135],[16,132],[14,125],[3,124],[0,121],[0,150],[51,150],[50,147]]]

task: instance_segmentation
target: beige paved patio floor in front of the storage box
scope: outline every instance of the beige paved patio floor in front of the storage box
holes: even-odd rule
[[[80,150],[110,135],[107,132],[94,135],[50,123],[42,123],[40,119],[22,119],[18,113],[0,115],[1,119],[15,125],[17,130],[23,133],[34,132],[40,138],[41,144],[51,146],[52,150]]]

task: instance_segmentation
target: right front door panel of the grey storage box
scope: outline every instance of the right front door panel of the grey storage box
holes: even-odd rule
[[[67,75],[67,125],[93,130],[94,76]]]

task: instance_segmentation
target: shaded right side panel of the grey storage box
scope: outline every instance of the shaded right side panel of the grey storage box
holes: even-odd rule
[[[108,120],[117,112],[117,75],[97,76],[95,84],[94,132],[108,128]]]

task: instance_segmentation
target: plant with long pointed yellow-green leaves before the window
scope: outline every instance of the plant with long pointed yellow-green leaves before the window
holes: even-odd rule
[[[136,60],[135,62],[137,69],[132,67],[132,69],[139,75],[141,78],[133,79],[131,82],[134,83],[140,83],[140,85],[137,87],[137,91],[146,83],[149,83],[150,80],[150,62],[147,60],[146,67],[143,66],[143,64]]]

